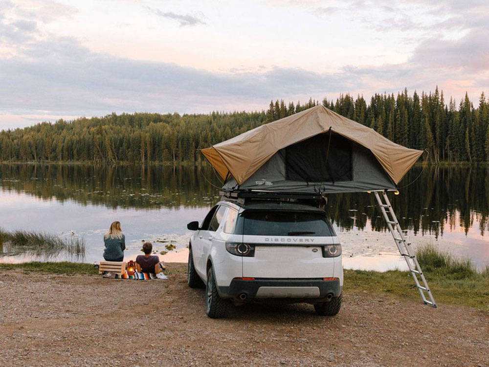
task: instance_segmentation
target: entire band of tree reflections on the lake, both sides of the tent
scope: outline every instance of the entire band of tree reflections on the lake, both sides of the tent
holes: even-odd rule
[[[219,200],[219,185],[208,166],[0,165],[4,190],[109,208],[211,206]],[[335,194],[328,200],[331,218],[340,228],[364,229],[369,221],[374,230],[386,230],[373,195]],[[484,235],[489,225],[489,168],[417,166],[391,202],[401,227],[415,234],[438,237],[445,226],[453,230],[458,224],[467,233],[475,220]]]

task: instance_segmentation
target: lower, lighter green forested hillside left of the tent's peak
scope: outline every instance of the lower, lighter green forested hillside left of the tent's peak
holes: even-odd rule
[[[175,162],[265,122],[265,112],[111,114],[0,132],[0,161]]]

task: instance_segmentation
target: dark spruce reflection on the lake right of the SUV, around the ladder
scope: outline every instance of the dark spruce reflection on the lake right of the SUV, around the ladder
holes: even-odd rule
[[[467,234],[474,222],[481,236],[488,230],[488,168],[418,166],[399,187],[400,195],[389,196],[403,229],[435,238],[459,226]],[[342,229],[364,229],[367,222],[376,231],[387,229],[374,195],[336,194],[328,200],[330,216]]]

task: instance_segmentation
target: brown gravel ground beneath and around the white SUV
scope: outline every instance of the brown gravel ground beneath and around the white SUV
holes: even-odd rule
[[[350,294],[335,317],[311,305],[204,313],[185,265],[168,280],[0,273],[7,366],[489,366],[489,315]]]

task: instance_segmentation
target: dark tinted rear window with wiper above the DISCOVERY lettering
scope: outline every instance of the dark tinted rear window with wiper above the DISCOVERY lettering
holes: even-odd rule
[[[322,213],[246,210],[238,216],[236,234],[268,236],[334,236]]]

